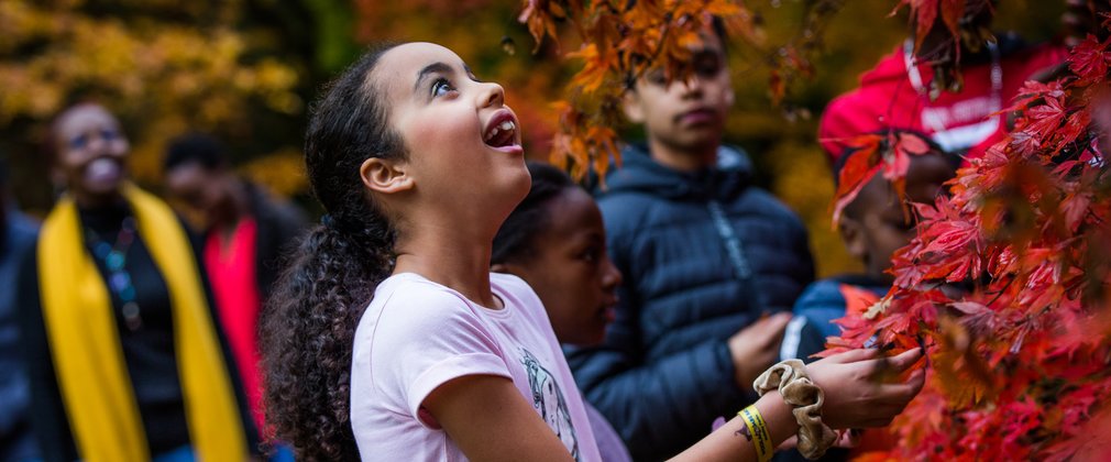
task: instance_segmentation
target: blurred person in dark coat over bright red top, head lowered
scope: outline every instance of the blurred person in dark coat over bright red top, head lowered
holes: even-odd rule
[[[258,319],[283,265],[284,253],[308,228],[304,213],[239,177],[217,138],[187,133],[166,149],[168,195],[179,210],[202,217],[203,265],[219,321],[228,333],[254,423],[266,433],[259,370]],[[292,459],[273,448],[271,461]]]

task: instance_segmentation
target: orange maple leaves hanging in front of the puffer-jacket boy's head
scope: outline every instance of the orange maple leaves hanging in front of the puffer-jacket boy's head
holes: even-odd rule
[[[552,162],[582,178],[589,169],[604,173],[611,160],[620,163],[617,132],[627,82],[649,68],[663,69],[668,81],[690,77],[690,48],[700,42],[712,17],[727,30],[749,37],[752,18],[735,0],[524,0],[519,20],[528,24],[539,48],[550,39],[559,46],[558,22],[573,27],[581,46],[570,58],[582,69],[556,103],[559,131]]]

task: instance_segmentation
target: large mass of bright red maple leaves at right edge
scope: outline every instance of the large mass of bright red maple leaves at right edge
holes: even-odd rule
[[[1090,36],[1071,74],[1025,86],[1013,133],[915,205],[891,291],[839,321],[832,351],[928,352],[898,446],[865,460],[1111,456],[1109,46]]]

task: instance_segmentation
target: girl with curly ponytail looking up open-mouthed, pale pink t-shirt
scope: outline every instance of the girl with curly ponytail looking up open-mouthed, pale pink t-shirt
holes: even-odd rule
[[[361,58],[316,106],[306,163],[328,214],[261,332],[267,421],[299,456],[600,459],[540,300],[490,273],[493,237],[530,184],[503,97],[450,50],[407,43]],[[889,421],[921,386],[882,383],[871,356],[811,366],[845,388],[827,396],[831,423]],[[760,403],[772,436],[794,433],[775,392]],[[739,422],[691,456],[751,458]]]

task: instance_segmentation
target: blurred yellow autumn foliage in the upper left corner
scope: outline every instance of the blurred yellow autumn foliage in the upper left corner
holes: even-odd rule
[[[97,6],[120,9],[119,16],[90,12],[90,3],[0,2],[0,125],[37,127],[20,133],[26,145],[40,143],[46,123],[68,104],[94,100],[123,120],[132,175],[151,184],[172,137],[244,133],[251,107],[288,116],[304,109],[298,69],[279,57],[251,56],[259,39],[236,28],[241,1]],[[143,14],[159,11],[192,20]]]

